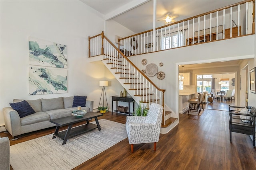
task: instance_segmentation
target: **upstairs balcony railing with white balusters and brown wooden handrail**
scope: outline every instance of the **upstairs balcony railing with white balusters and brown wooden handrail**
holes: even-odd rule
[[[254,0],[245,0],[158,27],[155,33],[151,29],[120,38],[118,47],[132,56],[254,34],[254,4]]]

